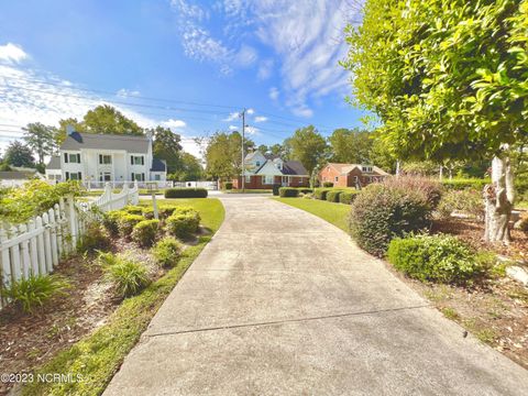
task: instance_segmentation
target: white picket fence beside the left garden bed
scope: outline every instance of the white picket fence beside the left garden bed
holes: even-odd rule
[[[123,186],[112,194],[107,185],[105,193],[92,202],[78,204],[73,197],[61,198],[47,212],[26,223],[0,224],[0,309],[8,302],[2,295],[3,286],[28,278],[30,274],[44,275],[53,271],[61,257],[75,251],[90,221],[97,220],[92,211],[121,209],[139,202],[139,187]]]

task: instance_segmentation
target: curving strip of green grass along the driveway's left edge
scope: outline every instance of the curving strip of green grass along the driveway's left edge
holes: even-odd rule
[[[182,204],[200,212],[202,223],[216,232],[223,221],[224,210],[218,199],[164,199],[161,205]],[[147,200],[142,204],[148,204]],[[23,395],[100,395],[119,370],[123,359],[139,341],[152,317],[178,283],[198,254],[211,240],[200,237],[187,248],[178,265],[151,284],[140,295],[127,298],[108,318],[105,326],[62,351],[36,374],[70,375],[74,382],[33,382],[22,388]]]

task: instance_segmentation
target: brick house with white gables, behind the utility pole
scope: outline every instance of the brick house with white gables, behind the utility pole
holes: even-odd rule
[[[278,156],[254,151],[245,156],[244,187],[268,189],[273,185],[306,187],[310,179],[308,170],[298,161],[283,161]],[[242,188],[242,177],[233,179],[233,188]]]

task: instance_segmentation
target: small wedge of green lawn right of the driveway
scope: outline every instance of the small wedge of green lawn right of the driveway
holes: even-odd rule
[[[305,198],[273,198],[279,202],[287,204],[298,209],[306,210],[307,212],[320,217],[321,219],[339,227],[344,232],[349,231],[348,217],[350,212],[350,206],[343,204],[333,204],[319,199],[305,199]]]

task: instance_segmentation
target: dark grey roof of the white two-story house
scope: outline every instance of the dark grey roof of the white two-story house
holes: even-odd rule
[[[102,148],[125,150],[129,153],[147,153],[146,136],[113,135],[73,132],[61,145],[61,150]]]

